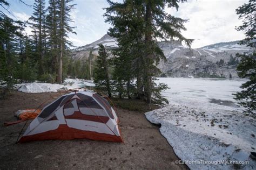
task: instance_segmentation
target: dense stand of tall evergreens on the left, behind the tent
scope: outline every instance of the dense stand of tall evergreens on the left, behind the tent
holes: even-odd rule
[[[21,5],[25,4],[19,1]],[[71,60],[68,33],[73,32],[70,11],[75,4],[72,0],[35,0],[32,16],[26,22],[14,20],[7,9],[9,3],[0,1],[6,9],[0,13],[0,76],[2,81],[62,83],[68,74],[79,70]],[[25,27],[32,28],[32,35],[26,34]],[[83,75],[80,75],[81,77]]]

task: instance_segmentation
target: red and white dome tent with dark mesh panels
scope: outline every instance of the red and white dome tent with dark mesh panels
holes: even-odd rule
[[[44,107],[19,142],[77,138],[123,142],[118,123],[105,98],[90,91],[72,92]]]

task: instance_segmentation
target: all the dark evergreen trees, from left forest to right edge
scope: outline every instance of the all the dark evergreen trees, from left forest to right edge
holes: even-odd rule
[[[74,60],[71,57],[72,42],[68,34],[75,33],[70,26],[70,12],[76,4],[73,0],[35,0],[32,16],[28,21],[12,19],[10,6],[0,0],[5,11],[0,12],[0,76],[9,86],[18,82],[35,80],[62,83],[66,76],[81,79],[94,79],[96,90],[108,96],[137,98],[147,103],[167,102],[160,92],[166,84],[156,84],[154,77],[160,74],[157,65],[165,61],[163,51],[157,41],[175,39],[190,47],[193,39],[183,37],[186,19],[174,17],[165,12],[165,7],[179,9],[179,3],[186,0],[124,0],[120,3],[107,0],[105,22],[110,23],[108,34],[117,39],[118,47],[107,51],[99,45],[99,56],[90,50],[88,58]],[[21,5],[28,5],[17,0]],[[238,100],[245,107],[255,110],[255,10],[252,0],[237,9],[239,18],[248,18],[237,30],[246,31],[246,39],[241,41],[254,49],[251,54],[231,56],[227,63],[223,59],[218,66],[238,65],[238,74],[250,81],[242,85],[246,90],[237,93]],[[45,5],[47,4],[47,6]],[[32,34],[25,32],[32,28]],[[111,58],[109,57],[111,53]],[[241,58],[240,63],[238,57]],[[254,72],[252,71],[254,70]],[[250,111],[250,109],[249,109]]]

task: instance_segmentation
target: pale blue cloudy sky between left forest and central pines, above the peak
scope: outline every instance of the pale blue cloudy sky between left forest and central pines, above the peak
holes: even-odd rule
[[[71,17],[75,21],[72,26],[76,26],[76,33],[70,34],[70,39],[75,40],[75,46],[90,44],[100,39],[111,25],[104,22],[103,14],[108,6],[106,1],[101,0],[76,0],[76,9],[71,12]]]

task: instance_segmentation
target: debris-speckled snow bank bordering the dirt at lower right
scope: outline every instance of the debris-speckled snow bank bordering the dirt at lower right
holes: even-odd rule
[[[240,165],[254,169],[249,155],[255,152],[255,119],[240,112],[205,112],[198,108],[170,104],[145,113],[183,161],[249,161]],[[191,169],[233,169],[233,165],[187,164]]]

